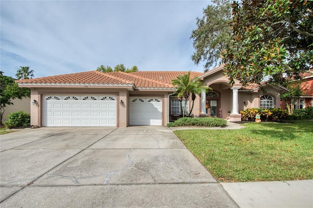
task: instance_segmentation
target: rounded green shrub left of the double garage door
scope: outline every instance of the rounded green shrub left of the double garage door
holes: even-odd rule
[[[10,113],[7,118],[8,121],[4,122],[6,128],[17,128],[30,125],[30,114],[25,113],[22,110]]]

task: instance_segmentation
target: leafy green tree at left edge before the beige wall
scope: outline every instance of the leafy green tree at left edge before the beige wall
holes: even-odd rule
[[[13,99],[22,99],[30,97],[30,90],[21,88],[15,83],[12,77],[0,75],[0,123],[2,124],[2,115],[6,105],[13,104]]]

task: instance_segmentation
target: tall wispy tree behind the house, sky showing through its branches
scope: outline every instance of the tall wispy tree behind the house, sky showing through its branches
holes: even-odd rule
[[[213,0],[213,5],[203,9],[203,17],[197,18],[197,29],[192,31],[195,52],[191,59],[198,65],[205,62],[204,72],[221,64],[222,51],[229,45],[232,35],[229,27],[231,6],[229,0]]]

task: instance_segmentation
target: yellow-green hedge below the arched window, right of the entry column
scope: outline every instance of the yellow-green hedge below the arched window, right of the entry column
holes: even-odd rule
[[[255,121],[255,116],[259,114],[262,121],[277,121],[285,119],[288,115],[288,111],[281,108],[247,108],[246,110],[240,111],[243,121]]]

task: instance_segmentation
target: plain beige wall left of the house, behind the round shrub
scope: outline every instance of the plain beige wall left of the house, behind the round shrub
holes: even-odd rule
[[[23,110],[26,113],[30,113],[30,98],[29,97],[23,97],[21,100],[18,98],[13,99],[12,103],[13,104],[10,104],[10,105],[7,104],[4,107],[2,122],[7,121],[8,120],[7,115],[13,112]]]

